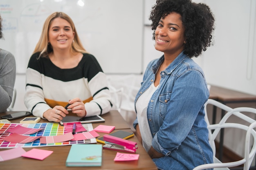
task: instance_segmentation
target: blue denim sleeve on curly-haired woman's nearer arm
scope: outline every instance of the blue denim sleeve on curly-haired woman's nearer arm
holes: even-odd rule
[[[202,72],[187,70],[176,76],[162,126],[152,141],[153,148],[164,155],[169,155],[182,144],[199,114],[202,119],[204,113],[200,110],[209,98]]]

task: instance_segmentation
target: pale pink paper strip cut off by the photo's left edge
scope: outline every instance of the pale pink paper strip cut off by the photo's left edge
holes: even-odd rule
[[[26,153],[26,151],[21,147],[2,150],[0,151],[0,161],[15,159],[15,158],[21,157],[21,155],[24,153]]]

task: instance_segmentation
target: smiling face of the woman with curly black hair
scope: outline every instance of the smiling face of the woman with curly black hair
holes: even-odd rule
[[[165,56],[177,57],[184,49],[184,32],[180,14],[166,15],[155,30],[155,49],[164,52]]]

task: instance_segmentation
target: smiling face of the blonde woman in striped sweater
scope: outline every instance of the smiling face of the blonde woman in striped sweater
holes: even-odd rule
[[[67,20],[57,17],[49,26],[49,43],[53,50],[70,49],[74,39],[74,31]]]

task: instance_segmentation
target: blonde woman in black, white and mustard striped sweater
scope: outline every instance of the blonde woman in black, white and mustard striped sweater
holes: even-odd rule
[[[83,48],[72,19],[63,12],[53,13],[43,25],[27,67],[24,101],[34,116],[50,122],[60,122],[67,109],[85,117],[112,107],[106,74]]]

